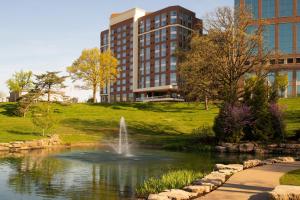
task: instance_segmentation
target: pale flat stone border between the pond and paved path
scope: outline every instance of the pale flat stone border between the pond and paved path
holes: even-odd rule
[[[215,171],[204,176],[201,179],[195,180],[192,185],[186,186],[183,189],[165,190],[158,194],[150,194],[148,200],[188,200],[201,197],[209,192],[214,191],[222,186],[232,175],[242,170],[261,166],[271,165],[274,163],[292,163],[295,162],[293,157],[277,157],[267,160],[247,160],[243,164],[216,164]]]

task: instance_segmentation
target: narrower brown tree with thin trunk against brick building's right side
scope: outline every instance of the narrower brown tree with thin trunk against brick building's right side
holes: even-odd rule
[[[208,110],[208,99],[217,95],[217,83],[210,77],[210,64],[201,55],[206,53],[203,48],[207,38],[194,35],[190,42],[190,49],[184,53],[179,52],[178,73],[179,89],[186,100],[205,101]]]

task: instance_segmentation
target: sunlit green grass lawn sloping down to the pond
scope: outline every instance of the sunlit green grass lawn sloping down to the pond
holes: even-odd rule
[[[287,130],[293,134],[300,127],[300,98],[280,101],[286,105]],[[0,142],[40,138],[30,117],[11,115],[15,104],[0,104]],[[212,126],[218,113],[197,103],[123,103],[123,104],[53,104],[59,121],[53,131],[64,142],[95,142],[118,134],[119,120],[124,116],[130,137],[138,142],[166,145],[191,139],[193,129]]]

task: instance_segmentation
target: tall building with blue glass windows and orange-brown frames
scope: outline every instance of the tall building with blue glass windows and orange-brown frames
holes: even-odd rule
[[[287,74],[285,97],[300,96],[300,0],[235,0],[252,12],[253,25],[263,26],[263,49],[275,52],[270,81]]]

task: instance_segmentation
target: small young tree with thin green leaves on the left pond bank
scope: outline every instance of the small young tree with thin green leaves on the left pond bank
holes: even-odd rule
[[[41,103],[32,109],[32,123],[42,130],[42,135],[54,127],[56,120],[49,103]]]

